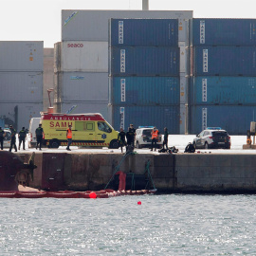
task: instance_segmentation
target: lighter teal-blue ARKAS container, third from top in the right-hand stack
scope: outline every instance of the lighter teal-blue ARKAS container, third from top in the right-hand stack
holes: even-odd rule
[[[256,105],[256,77],[193,77],[191,104]]]

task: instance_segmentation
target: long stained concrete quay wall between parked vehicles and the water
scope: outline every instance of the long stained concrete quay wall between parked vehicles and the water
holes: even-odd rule
[[[18,155],[27,161],[31,152]],[[28,185],[43,190],[102,190],[122,157],[117,153],[36,152],[38,168]],[[128,155],[119,170],[143,175],[148,161],[158,192],[256,192],[255,155],[136,154]]]

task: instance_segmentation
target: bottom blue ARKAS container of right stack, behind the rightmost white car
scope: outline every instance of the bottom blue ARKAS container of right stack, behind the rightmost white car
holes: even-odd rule
[[[247,135],[250,122],[256,120],[256,106],[195,105],[191,107],[191,134],[206,127],[221,127],[229,135]]]

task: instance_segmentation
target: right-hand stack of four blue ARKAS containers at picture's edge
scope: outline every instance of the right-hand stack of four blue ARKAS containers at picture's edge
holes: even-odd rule
[[[246,134],[256,119],[256,20],[190,21],[190,132]]]

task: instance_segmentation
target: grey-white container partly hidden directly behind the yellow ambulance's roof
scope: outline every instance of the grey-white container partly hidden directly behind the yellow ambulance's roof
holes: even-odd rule
[[[66,113],[72,106],[76,106],[72,114],[101,113],[104,119],[108,119],[108,101],[83,101],[83,102],[63,102],[61,103],[61,113]]]

